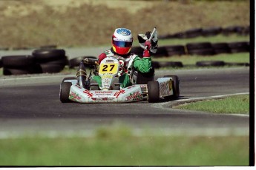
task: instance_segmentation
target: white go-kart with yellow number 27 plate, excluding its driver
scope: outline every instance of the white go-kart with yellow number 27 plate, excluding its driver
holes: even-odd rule
[[[156,33],[156,29],[153,30],[149,38],[150,41],[154,33]],[[145,47],[142,46],[142,48]],[[148,73],[138,72],[134,67],[131,67],[132,61],[129,61],[130,67],[126,68],[125,74],[129,75],[131,86],[122,88],[122,84],[119,84],[118,80],[120,70],[125,69],[122,65],[125,63],[125,58],[107,56],[100,64],[97,61],[97,59],[85,58],[79,65],[76,77],[63,79],[59,91],[59,98],[62,103],[70,101],[78,103],[128,103],[143,100],[157,102],[160,101],[160,98],[172,100],[180,96],[180,80],[177,75],[165,75],[154,81],[154,68],[151,68]],[[89,75],[87,75],[85,66],[91,68]],[[101,86],[93,82],[94,75],[101,77]]]

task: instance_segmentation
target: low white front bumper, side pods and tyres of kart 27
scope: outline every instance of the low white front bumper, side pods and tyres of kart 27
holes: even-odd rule
[[[129,103],[134,101],[157,102],[160,98],[176,99],[180,95],[176,75],[167,75],[148,84],[134,84],[119,90],[89,90],[79,85],[76,78],[65,78],[60,85],[60,101],[78,103]]]

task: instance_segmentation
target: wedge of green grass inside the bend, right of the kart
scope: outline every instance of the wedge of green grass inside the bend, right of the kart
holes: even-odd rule
[[[174,106],[176,109],[188,109],[212,113],[240,113],[249,115],[249,95],[235,95],[219,100],[199,101]]]

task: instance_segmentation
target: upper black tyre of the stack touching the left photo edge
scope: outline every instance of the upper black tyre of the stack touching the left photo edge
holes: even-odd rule
[[[36,64],[32,55],[9,55],[1,57],[3,67],[27,67]]]

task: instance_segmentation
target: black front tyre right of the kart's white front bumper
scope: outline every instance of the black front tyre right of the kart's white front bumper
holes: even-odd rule
[[[160,86],[157,81],[149,81],[148,84],[148,102],[154,103],[160,100]]]

